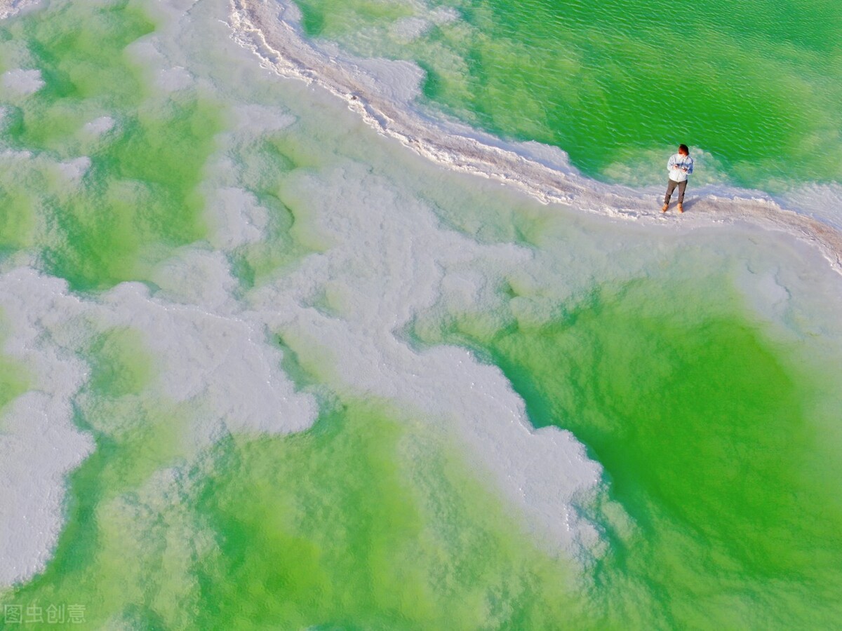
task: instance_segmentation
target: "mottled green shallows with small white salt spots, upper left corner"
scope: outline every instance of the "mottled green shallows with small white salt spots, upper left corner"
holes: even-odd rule
[[[0,175],[0,247],[37,247],[73,289],[146,278],[173,247],[205,237],[198,186],[224,113],[200,88],[154,87],[154,70],[126,50],[153,29],[126,2],[57,4],[3,26],[0,41],[24,42],[45,85],[0,103],[3,145],[31,156]],[[85,129],[104,117],[113,129]],[[81,178],[61,174],[60,162],[83,156]]]

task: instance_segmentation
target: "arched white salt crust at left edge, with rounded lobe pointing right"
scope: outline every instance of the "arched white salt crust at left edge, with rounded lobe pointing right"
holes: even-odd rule
[[[189,403],[196,426],[189,433],[199,443],[228,432],[299,432],[315,420],[315,401],[293,391],[264,327],[238,315],[224,294],[232,280],[221,255],[185,253],[161,273],[215,311],[156,299],[142,284],[83,300],[65,281],[29,268],[0,276],[3,353],[34,381],[0,420],[0,586],[43,569],[61,530],[65,475],[93,451],[72,403],[88,379],[82,353],[97,331],[141,334],[157,369],[150,395]]]

